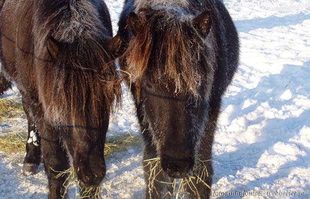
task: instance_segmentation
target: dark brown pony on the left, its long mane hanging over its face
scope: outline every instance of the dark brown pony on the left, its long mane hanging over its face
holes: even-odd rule
[[[109,114],[120,100],[105,3],[6,0],[0,6],[2,73],[22,95],[29,133],[38,130],[49,197],[63,193],[66,177],[56,179],[55,171],[70,167],[67,154],[81,185],[98,186]]]

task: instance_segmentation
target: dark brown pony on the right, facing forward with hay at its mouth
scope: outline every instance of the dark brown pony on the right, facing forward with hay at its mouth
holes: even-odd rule
[[[145,141],[146,198],[173,194],[173,179],[194,182],[187,198],[209,198],[216,122],[239,60],[223,2],[126,0],[115,38]]]

